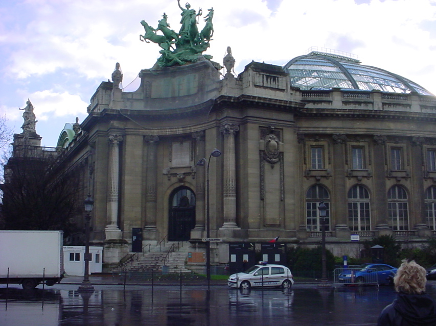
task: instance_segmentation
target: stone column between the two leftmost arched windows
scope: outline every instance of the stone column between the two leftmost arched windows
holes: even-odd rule
[[[350,229],[348,228],[348,211],[347,204],[343,202],[343,197],[347,196],[347,189],[345,185],[345,146],[347,142],[347,136],[342,134],[333,135],[333,187],[336,195],[333,198],[333,210],[335,217],[335,231],[336,237],[342,239],[350,238]],[[332,218],[333,216],[331,216]],[[332,223],[332,221],[331,221]]]

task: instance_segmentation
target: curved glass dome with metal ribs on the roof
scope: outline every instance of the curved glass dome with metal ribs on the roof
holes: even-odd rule
[[[359,60],[345,56],[344,53],[331,52],[312,51],[289,61],[283,68],[289,73],[291,85],[303,90],[378,89],[382,92],[433,95],[420,85],[395,73],[361,65]]]

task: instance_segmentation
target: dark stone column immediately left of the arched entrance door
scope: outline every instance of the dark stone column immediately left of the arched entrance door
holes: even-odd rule
[[[145,192],[145,227],[144,238],[157,240],[156,238],[156,209],[157,209],[157,142],[159,137],[153,135],[144,136],[148,143],[147,169],[146,169],[146,192]]]

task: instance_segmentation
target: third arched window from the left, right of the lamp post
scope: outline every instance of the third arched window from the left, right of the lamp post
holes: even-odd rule
[[[387,212],[392,230],[409,230],[407,192],[403,187],[395,185],[387,191]]]

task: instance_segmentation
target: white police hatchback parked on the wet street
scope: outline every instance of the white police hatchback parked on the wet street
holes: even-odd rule
[[[251,287],[273,286],[288,289],[294,284],[290,269],[283,265],[259,264],[244,272],[230,275],[227,285],[231,288],[249,289]]]

